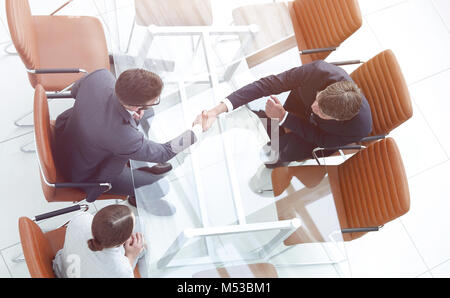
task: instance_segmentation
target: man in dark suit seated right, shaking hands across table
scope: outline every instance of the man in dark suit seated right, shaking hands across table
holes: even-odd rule
[[[283,106],[272,95],[286,91],[290,94]],[[370,106],[358,86],[342,68],[322,60],[242,87],[212,110],[203,112],[206,119],[203,129],[209,129],[219,114],[265,96],[271,96],[266,111],[256,114],[260,118],[278,119],[280,125],[276,136],[279,137],[278,159],[268,162],[268,167],[311,158],[316,147],[357,142],[372,130]],[[268,132],[276,131],[270,125],[266,128]]]

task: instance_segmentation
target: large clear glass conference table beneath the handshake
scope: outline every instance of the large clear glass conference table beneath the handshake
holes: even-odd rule
[[[155,1],[94,2],[109,36],[116,75],[145,68],[165,83],[161,104],[141,125],[156,142],[180,135],[202,110],[254,81],[249,66],[292,46],[285,3],[178,1],[200,4],[177,8],[176,1],[160,1],[172,5],[167,10]],[[183,12],[175,18],[183,24],[173,23],[171,10]],[[294,177],[275,197],[272,170],[263,165],[261,153],[270,139],[250,108],[219,117],[199,142],[170,161],[174,169],[169,174],[135,188],[138,225],[147,242],[139,264],[143,276],[189,277],[255,263],[273,264],[280,277],[305,276],[299,270],[311,266],[319,276],[348,275],[326,170],[313,186]],[[142,166],[152,164],[131,162],[133,173]],[[176,213],[152,215],[150,206],[157,199],[170,202]],[[285,216],[286,206],[295,212]]]

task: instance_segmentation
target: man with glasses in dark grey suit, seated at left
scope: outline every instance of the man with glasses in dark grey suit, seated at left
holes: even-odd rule
[[[164,164],[192,145],[201,132],[201,122],[179,137],[159,144],[138,130],[151,106],[159,103],[161,78],[143,69],[125,71],[115,77],[107,70],[95,71],[72,88],[73,108],[56,120],[56,161],[65,178],[72,182],[110,182],[109,193],[129,195],[135,205],[134,187],[156,182],[171,169]],[[134,187],[129,160],[160,163],[134,171]],[[149,199],[152,199],[151,197]],[[151,204],[155,215],[167,216],[175,207],[164,200]]]

